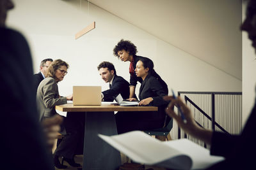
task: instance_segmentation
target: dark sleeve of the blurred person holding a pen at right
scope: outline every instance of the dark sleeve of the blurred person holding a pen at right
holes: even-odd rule
[[[211,155],[225,157],[209,169],[255,169],[256,101],[240,135],[213,132]]]

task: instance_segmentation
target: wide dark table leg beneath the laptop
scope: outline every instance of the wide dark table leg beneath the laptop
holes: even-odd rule
[[[117,134],[114,112],[86,112],[83,170],[118,169],[121,164],[120,152],[97,134]]]

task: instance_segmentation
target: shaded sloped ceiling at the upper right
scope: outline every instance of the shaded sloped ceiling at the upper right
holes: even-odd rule
[[[90,0],[242,80],[241,0]]]

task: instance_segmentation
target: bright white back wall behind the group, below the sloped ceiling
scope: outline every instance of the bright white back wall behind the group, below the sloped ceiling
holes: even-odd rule
[[[82,2],[82,4],[80,4]],[[60,94],[72,93],[72,85],[102,85],[97,65],[108,60],[117,73],[129,80],[129,63],[113,56],[113,47],[124,38],[138,47],[138,55],[154,61],[155,69],[175,91],[241,91],[242,82],[178,48],[141,31],[86,1],[14,1],[8,25],[22,31],[33,54],[35,73],[42,59],[52,57],[70,64],[60,82]],[[96,29],[75,40],[74,35],[96,21]],[[195,42],[196,43],[196,42]],[[239,48],[239,47],[237,47]],[[220,61],[221,62],[221,61]],[[138,92],[138,88],[137,88]]]

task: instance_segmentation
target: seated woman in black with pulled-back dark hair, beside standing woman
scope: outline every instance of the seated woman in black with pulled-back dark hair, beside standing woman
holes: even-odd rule
[[[145,131],[161,128],[164,125],[166,113],[164,108],[167,102],[163,100],[166,96],[166,90],[157,80],[154,73],[154,64],[148,58],[141,58],[136,64],[136,76],[142,78],[140,87],[139,106],[157,106],[158,111],[118,111],[116,113],[116,128],[118,134],[129,131]],[[136,98],[130,98],[130,101],[136,101]]]

